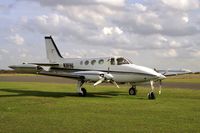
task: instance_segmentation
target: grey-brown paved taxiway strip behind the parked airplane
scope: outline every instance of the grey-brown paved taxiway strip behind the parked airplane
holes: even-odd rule
[[[51,77],[51,76],[0,76],[0,82],[46,82],[46,83],[68,83],[76,84],[76,80],[61,78],[61,77]],[[164,82],[163,88],[184,88],[184,89],[199,89],[199,83],[184,83],[184,82]]]

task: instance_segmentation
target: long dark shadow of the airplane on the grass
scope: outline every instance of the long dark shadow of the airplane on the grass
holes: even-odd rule
[[[77,93],[70,92],[49,92],[49,91],[34,91],[34,90],[19,90],[19,89],[0,89],[3,92],[9,92],[12,94],[0,95],[2,97],[24,97],[24,96],[36,96],[36,97],[52,97],[52,98],[62,98],[62,97],[79,97]],[[13,94],[15,93],[15,94]],[[99,98],[112,98],[113,96],[125,95],[118,91],[106,91],[106,92],[90,92],[86,97],[99,97]],[[127,95],[127,94],[126,94]]]

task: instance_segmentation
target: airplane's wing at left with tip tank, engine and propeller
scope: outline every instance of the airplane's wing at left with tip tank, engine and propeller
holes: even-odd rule
[[[52,63],[28,63],[21,65],[13,65],[9,66],[14,69],[16,72],[20,73],[32,73],[39,75],[47,75],[47,76],[56,76],[56,77],[65,77],[72,78],[77,80],[91,81],[95,82],[94,86],[102,83],[102,82],[110,82],[117,86],[117,83],[114,81],[114,77],[112,74],[101,71],[65,71],[65,70],[54,70],[51,67],[59,66],[59,64]],[[45,69],[44,67],[49,67]]]

